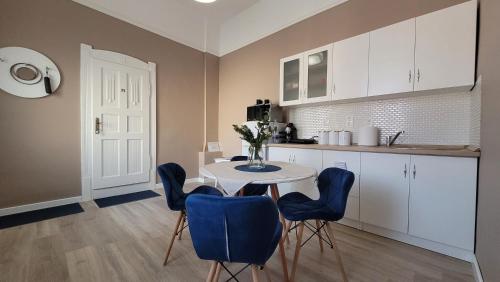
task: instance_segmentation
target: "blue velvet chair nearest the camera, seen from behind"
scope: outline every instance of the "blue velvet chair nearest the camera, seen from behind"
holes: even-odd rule
[[[258,276],[258,267],[265,270],[282,232],[272,199],[192,195],[186,201],[186,208],[196,254],[212,261],[207,281],[212,281],[214,276],[217,280],[221,267],[238,281],[237,274],[231,273],[224,262],[244,263],[244,268],[251,266],[254,279]]]

